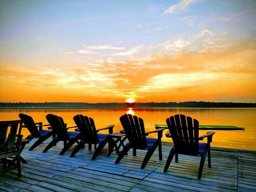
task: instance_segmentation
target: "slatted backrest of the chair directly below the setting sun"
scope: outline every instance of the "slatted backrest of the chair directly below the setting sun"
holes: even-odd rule
[[[120,121],[132,148],[147,149],[143,119],[135,115],[125,114],[120,117]]]

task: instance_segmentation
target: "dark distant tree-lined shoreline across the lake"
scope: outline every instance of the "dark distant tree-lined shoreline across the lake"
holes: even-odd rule
[[[30,109],[30,108],[256,108],[256,103],[234,102],[146,102],[146,103],[84,103],[84,102],[0,102],[0,109]]]

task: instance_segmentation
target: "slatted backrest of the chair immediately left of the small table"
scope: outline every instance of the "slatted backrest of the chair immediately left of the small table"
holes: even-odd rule
[[[83,115],[76,115],[73,119],[86,143],[94,144],[99,142],[96,127],[92,118]]]

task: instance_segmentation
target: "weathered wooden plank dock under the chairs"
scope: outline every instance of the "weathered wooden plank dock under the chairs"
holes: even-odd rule
[[[197,179],[199,157],[179,155],[167,173],[164,165],[172,143],[163,142],[163,160],[158,151],[145,169],[140,169],[146,151],[132,151],[119,164],[114,164],[117,154],[107,156],[107,147],[94,161],[94,149],[78,151],[70,158],[71,147],[59,155],[62,142],[47,153],[46,146],[28,151],[33,140],[21,156],[28,163],[22,164],[22,177],[12,169],[0,175],[0,191],[256,191],[256,151],[212,147],[212,167],[205,161],[202,179]]]

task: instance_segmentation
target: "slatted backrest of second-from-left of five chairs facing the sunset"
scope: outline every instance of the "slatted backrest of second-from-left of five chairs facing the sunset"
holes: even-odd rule
[[[57,135],[59,140],[65,141],[69,139],[68,131],[62,117],[48,114],[46,115],[46,119],[51,125],[52,131]]]

